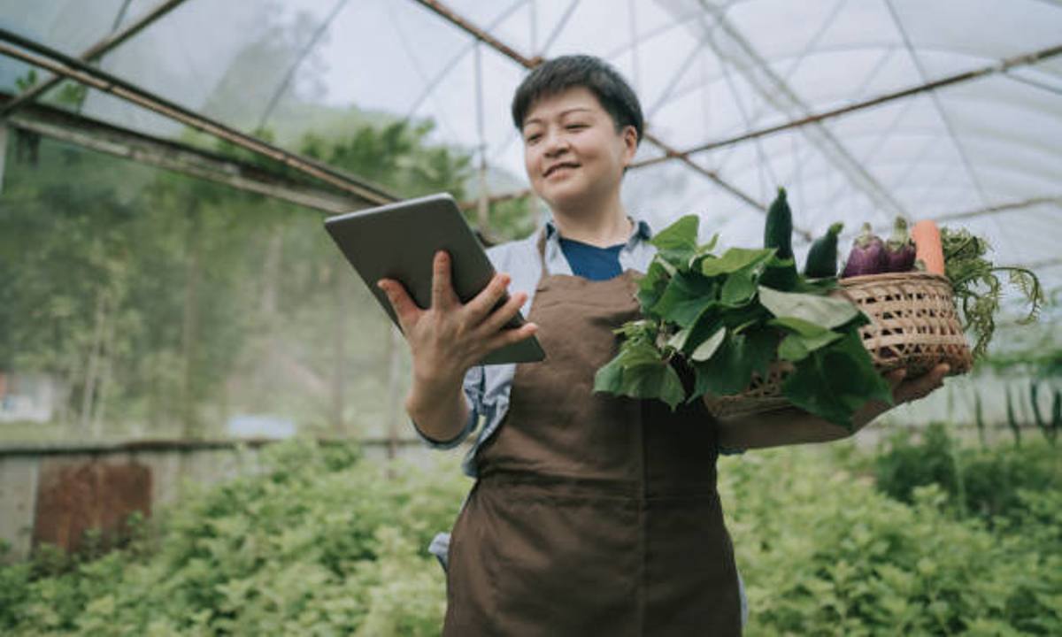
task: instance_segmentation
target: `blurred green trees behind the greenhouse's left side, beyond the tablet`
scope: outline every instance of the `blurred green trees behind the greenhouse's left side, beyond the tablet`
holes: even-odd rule
[[[430,123],[343,124],[299,150],[397,195],[463,196],[469,155],[432,144]],[[382,416],[386,375],[346,371],[390,360],[390,326],[319,214],[50,140],[37,150],[35,162],[8,163],[0,197],[11,273],[0,277],[0,371],[55,379],[64,430],[201,436],[254,410],[345,433],[336,428],[359,394]],[[295,177],[232,144],[211,150]],[[490,221],[509,237],[535,217],[529,202],[508,202]]]

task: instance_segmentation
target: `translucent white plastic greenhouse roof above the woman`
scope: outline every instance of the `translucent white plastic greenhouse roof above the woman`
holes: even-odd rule
[[[0,27],[80,56],[160,3],[7,2]],[[1062,2],[174,4],[99,67],[239,131],[278,125],[307,104],[431,118],[436,141],[482,153],[494,174],[510,175],[491,180],[490,194],[502,194],[527,188],[509,115],[526,65],[592,53],[641,98],[652,140],[624,197],[656,227],[697,212],[724,243],[754,244],[784,185],[795,225],[810,235],[844,221],[846,243],[863,221],[886,231],[896,213],[955,217],[990,239],[997,262],[1034,264],[1048,289],[1062,283]],[[0,90],[18,92],[28,71],[0,58]],[[980,73],[919,89],[972,71]],[[842,113],[815,117],[833,110]],[[96,89],[82,114],[156,136],[184,130]],[[802,120],[810,121],[786,125]]]

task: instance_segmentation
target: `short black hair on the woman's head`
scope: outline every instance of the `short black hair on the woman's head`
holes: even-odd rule
[[[546,62],[524,79],[513,94],[513,123],[524,127],[524,118],[539,99],[569,88],[585,87],[612,116],[616,131],[634,126],[641,141],[645,119],[634,89],[609,63],[593,55],[563,55]]]

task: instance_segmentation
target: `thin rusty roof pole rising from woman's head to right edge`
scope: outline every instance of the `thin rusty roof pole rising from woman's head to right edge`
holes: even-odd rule
[[[824,110],[823,113],[809,115],[807,117],[802,117],[783,124],[777,124],[775,126],[767,126],[766,128],[759,128],[757,131],[749,131],[747,133],[741,133],[740,135],[735,135],[734,137],[727,137],[726,139],[720,139],[717,141],[709,141],[700,145],[692,147],[683,151],[681,154],[693,155],[697,153],[704,153],[707,151],[714,151],[716,149],[721,149],[724,147],[733,145],[742,141],[748,141],[750,139],[755,139],[757,137],[765,137],[767,135],[773,135],[775,133],[781,133],[783,131],[789,131],[790,128],[799,128],[801,126],[806,126],[808,124],[813,124],[817,122],[822,122],[827,119],[833,119],[841,115],[847,115],[850,113],[855,113],[857,110],[862,110],[864,108],[870,108],[872,106],[878,106],[880,104],[886,104],[895,100],[901,100],[903,98],[909,98],[922,92],[936,90],[939,88],[944,88],[945,86],[952,86],[955,84],[962,84],[963,82],[970,82],[971,80],[977,80],[979,78],[984,78],[987,75],[993,75],[995,73],[1004,73],[1009,69],[1029,66],[1043,62],[1045,59],[1055,57],[1062,54],[1062,45],[1058,47],[1051,47],[1049,49],[1043,49],[1041,51],[1034,51],[1032,53],[1026,53],[1024,55],[1015,55],[1014,57],[1009,57],[1004,59],[998,64],[982,67],[973,71],[966,71],[964,73],[957,73],[955,75],[948,75],[947,78],[942,78],[940,80],[935,80],[932,82],[927,82],[925,84],[920,84],[918,86],[912,86],[902,90],[897,90],[891,93],[886,93],[870,100],[864,100],[862,102],[856,102],[855,104],[849,104],[847,106],[841,106],[840,108],[834,108],[832,110]],[[643,168],[646,166],[652,166],[654,163],[661,163],[662,161],[668,161],[673,157],[658,157],[652,159],[646,159],[638,161],[631,166],[634,168]]]

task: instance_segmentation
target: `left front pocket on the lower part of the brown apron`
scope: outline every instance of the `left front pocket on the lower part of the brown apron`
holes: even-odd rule
[[[504,634],[639,634],[636,501],[501,489],[491,496],[484,557]]]

